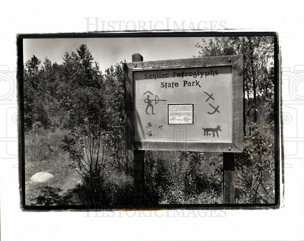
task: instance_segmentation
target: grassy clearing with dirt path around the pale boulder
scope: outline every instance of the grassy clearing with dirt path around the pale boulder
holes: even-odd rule
[[[26,205],[52,204],[65,178],[73,172],[68,167],[68,154],[61,150],[64,130],[40,130],[25,133]],[[37,172],[49,172],[54,177],[47,182],[32,182]]]

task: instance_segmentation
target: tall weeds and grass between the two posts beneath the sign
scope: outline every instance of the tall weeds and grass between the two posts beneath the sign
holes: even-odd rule
[[[161,204],[220,203],[222,179],[209,160],[218,155],[203,152],[147,151],[146,202]],[[220,158],[219,158],[220,159]],[[219,161],[220,162],[220,161]]]

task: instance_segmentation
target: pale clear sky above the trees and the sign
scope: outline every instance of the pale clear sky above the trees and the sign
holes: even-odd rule
[[[35,55],[41,62],[48,57],[52,63],[60,64],[65,52],[76,51],[81,44],[86,44],[104,73],[125,59],[132,62],[135,53],[140,53],[143,61],[192,58],[198,55],[199,49],[195,47],[198,42],[202,42],[202,37],[23,39],[23,62]]]

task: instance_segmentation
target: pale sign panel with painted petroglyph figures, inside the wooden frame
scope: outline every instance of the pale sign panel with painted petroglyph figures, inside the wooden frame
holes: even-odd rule
[[[140,71],[133,79],[135,140],[232,142],[231,66]]]

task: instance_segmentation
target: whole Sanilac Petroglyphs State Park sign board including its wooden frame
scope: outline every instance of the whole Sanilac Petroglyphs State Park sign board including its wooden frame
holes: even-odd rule
[[[240,152],[242,56],[125,64],[129,149]]]

